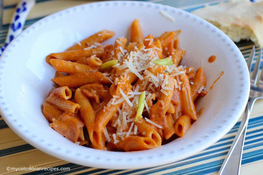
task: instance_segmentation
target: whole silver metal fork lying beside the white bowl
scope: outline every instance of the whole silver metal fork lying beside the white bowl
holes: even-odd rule
[[[227,153],[226,158],[218,172],[218,175],[239,175],[240,173],[243,146],[250,112],[254,105],[254,102],[257,99],[263,98],[263,71],[261,71],[259,83],[258,85],[256,85],[257,79],[259,78],[259,67],[261,64],[262,50],[263,49],[260,48],[257,56],[257,61],[255,63],[255,67],[252,73],[252,77],[250,79],[250,94],[245,113],[243,115],[240,127],[236,133],[234,141],[229,149],[229,152]],[[249,73],[251,72],[254,57],[255,46],[252,48],[247,62]]]

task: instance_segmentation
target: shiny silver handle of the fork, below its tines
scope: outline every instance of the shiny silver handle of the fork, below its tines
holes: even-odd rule
[[[250,104],[248,102],[242,121],[240,123],[240,127],[238,128],[234,141],[226,155],[218,175],[239,174],[249,116]]]

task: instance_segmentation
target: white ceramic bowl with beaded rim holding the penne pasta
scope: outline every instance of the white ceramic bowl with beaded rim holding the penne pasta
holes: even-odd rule
[[[174,22],[160,13],[165,11]],[[184,65],[203,67],[207,90],[198,102],[201,117],[187,134],[159,148],[138,152],[110,152],[79,146],[49,127],[41,112],[53,87],[55,69],[46,63],[50,53],[61,52],[102,29],[116,37],[129,36],[138,18],[145,36],[181,29]],[[211,55],[217,59],[208,62]],[[202,61],[203,60],[203,61]],[[203,62],[203,63],[202,63]],[[190,157],[209,147],[237,122],[248,100],[250,78],[237,46],[209,22],[186,11],[142,1],[88,3],[54,13],[35,22],[17,36],[0,58],[0,109],[6,123],[25,141],[45,153],[88,167],[135,169],[154,167]],[[198,111],[197,109],[197,111]]]

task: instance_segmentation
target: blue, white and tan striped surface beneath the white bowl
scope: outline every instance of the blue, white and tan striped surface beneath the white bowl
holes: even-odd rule
[[[91,0],[37,0],[36,5],[27,17],[25,27],[59,10],[72,6],[95,2]],[[161,3],[181,8],[188,12],[204,5],[222,2],[222,0],[152,0],[150,2]],[[3,26],[0,31],[0,46],[3,45],[11,17],[14,13],[18,0],[4,0]],[[247,60],[252,42],[246,41],[236,43],[245,59]],[[258,48],[256,48],[258,50]],[[2,105],[2,104],[0,104]],[[242,116],[241,116],[242,118]],[[241,120],[241,119],[240,119]],[[187,159],[161,167],[137,169],[137,170],[114,170],[83,167],[77,164],[60,160],[51,155],[43,153],[34,148],[6,125],[0,117],[0,175],[18,174],[217,174],[226,154],[233,142],[240,120],[236,125],[217,143],[193,155]],[[53,167],[58,171],[7,171],[7,167],[28,168],[28,167]],[[60,170],[60,168],[70,168]],[[262,175],[263,172],[263,100],[256,101],[248,123],[248,130],[245,139],[245,146],[242,158],[241,175]]]

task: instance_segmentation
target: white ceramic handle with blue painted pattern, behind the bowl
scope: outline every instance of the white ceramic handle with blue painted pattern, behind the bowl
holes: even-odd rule
[[[16,8],[15,13],[13,14],[12,20],[10,22],[8,33],[6,36],[6,41],[4,43],[4,46],[0,49],[0,55],[3,53],[6,46],[16,37],[18,34],[20,34],[23,30],[25,21],[27,19],[27,15],[32,9],[32,7],[35,5],[35,0],[22,0],[20,1]]]

